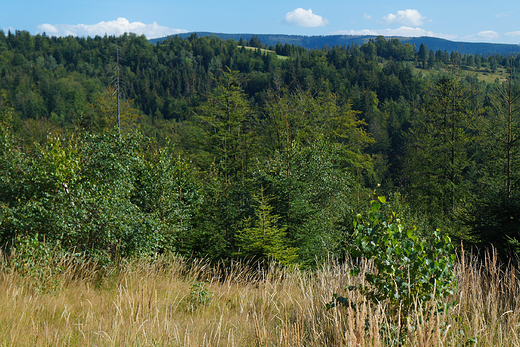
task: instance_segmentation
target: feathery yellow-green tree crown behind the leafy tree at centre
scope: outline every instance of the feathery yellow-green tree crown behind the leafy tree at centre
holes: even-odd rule
[[[375,97],[375,94],[373,94]],[[265,107],[268,118],[264,136],[271,152],[287,152],[293,143],[307,146],[325,139],[341,148],[343,160],[350,166],[371,173],[372,160],[363,150],[374,142],[352,104],[341,104],[334,93],[271,94]]]

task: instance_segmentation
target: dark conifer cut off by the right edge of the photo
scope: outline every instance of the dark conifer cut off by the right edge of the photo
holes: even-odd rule
[[[490,93],[484,123],[482,157],[475,204],[465,216],[473,240],[493,244],[503,253],[520,252],[520,86],[510,77]],[[510,247],[512,246],[512,248]]]

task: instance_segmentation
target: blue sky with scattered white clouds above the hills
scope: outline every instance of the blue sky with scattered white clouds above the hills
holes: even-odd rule
[[[520,1],[12,0],[0,28],[49,36],[187,31],[435,36],[520,44]]]

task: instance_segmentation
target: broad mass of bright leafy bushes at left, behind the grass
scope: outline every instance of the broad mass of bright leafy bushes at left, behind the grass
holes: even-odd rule
[[[38,234],[102,264],[116,245],[122,257],[175,250],[198,187],[186,163],[150,154],[148,141],[139,132],[107,132],[22,152],[9,134],[0,137],[0,244]]]

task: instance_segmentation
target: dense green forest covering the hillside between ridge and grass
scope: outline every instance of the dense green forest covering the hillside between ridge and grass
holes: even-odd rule
[[[0,31],[0,242],[312,266],[379,196],[421,237],[511,256],[519,68],[384,37]]]

